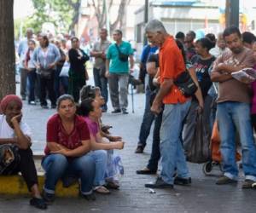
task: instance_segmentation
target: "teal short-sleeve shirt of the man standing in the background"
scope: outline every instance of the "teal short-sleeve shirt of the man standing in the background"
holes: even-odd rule
[[[131,48],[131,43],[122,42],[119,45],[120,52],[125,55],[133,55],[133,49]],[[107,59],[110,60],[109,72],[110,73],[128,73],[129,64],[127,61],[119,60],[119,51],[115,46],[115,43],[112,43],[107,52]]]

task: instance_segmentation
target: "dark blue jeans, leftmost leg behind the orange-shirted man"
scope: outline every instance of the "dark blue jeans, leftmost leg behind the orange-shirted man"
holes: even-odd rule
[[[144,109],[144,114],[143,114],[143,123],[141,124],[141,130],[139,133],[139,141],[138,141],[138,146],[143,146],[146,147],[147,145],[147,138],[150,133],[151,125],[153,124],[154,121],[154,113],[151,112],[150,110],[150,94],[151,91],[146,88],[145,91],[145,109]]]

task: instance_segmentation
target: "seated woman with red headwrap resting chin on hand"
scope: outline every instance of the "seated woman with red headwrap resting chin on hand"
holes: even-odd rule
[[[41,198],[38,189],[38,175],[31,150],[31,129],[22,121],[22,101],[17,95],[6,95],[0,108],[0,147],[9,150],[9,166],[1,168],[1,175],[15,175],[18,172],[26,181],[28,190],[32,193],[30,204],[38,209],[46,209],[47,205]],[[2,152],[1,152],[2,153]],[[4,153],[6,157],[7,153]],[[1,156],[2,158],[2,156]]]

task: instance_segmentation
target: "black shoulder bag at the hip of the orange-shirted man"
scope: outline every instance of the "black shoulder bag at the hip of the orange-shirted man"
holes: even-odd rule
[[[177,88],[186,97],[194,95],[197,90],[197,86],[188,71],[179,74],[177,79],[174,81],[174,84],[177,85]]]

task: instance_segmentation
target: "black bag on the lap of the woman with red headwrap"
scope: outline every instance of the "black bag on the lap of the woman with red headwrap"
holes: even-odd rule
[[[19,147],[14,144],[0,145],[0,175],[12,175],[19,164]]]

